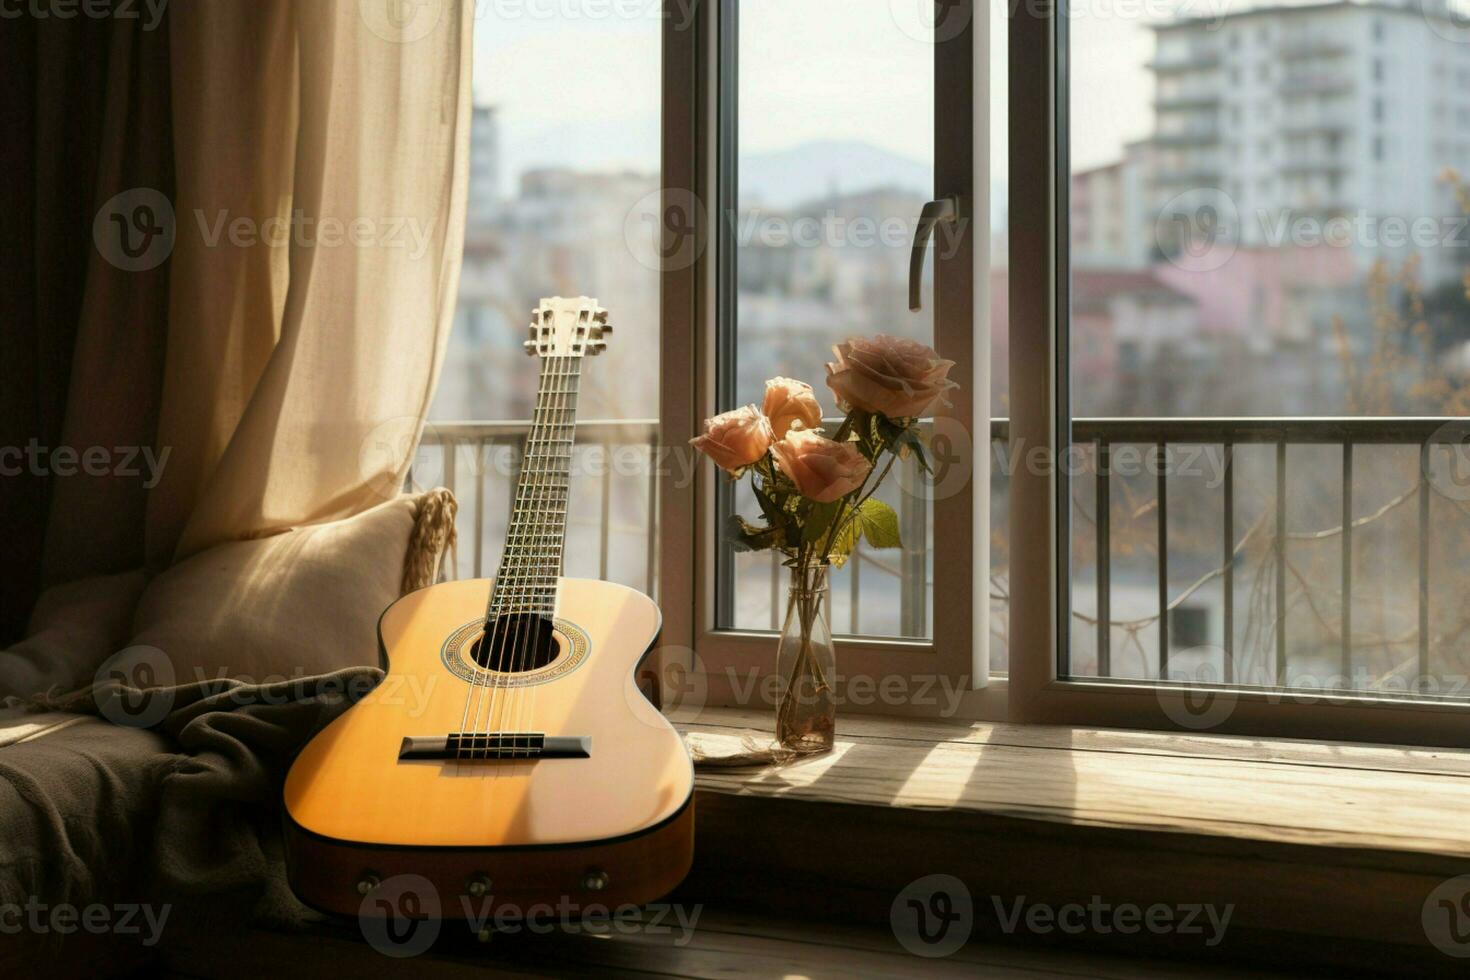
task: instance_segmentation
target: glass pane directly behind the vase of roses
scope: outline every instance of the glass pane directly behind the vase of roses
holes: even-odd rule
[[[778,375],[823,383],[835,344],[891,334],[933,344],[932,292],[908,311],[914,225],[933,195],[931,18],[889,0],[741,0],[734,378],[729,404],[759,401]],[[932,278],[932,260],[928,266]],[[932,541],[926,501],[889,479],[904,551],[867,551],[832,576],[839,633],[931,632]],[[734,500],[753,513],[748,483]],[[722,555],[722,627],[775,629],[784,569],[772,552]]]

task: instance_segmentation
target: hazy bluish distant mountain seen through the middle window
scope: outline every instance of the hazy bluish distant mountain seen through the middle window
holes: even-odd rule
[[[933,167],[870,143],[814,141],[789,150],[741,157],[739,194],[745,204],[792,207],[836,194],[881,187],[933,191]]]

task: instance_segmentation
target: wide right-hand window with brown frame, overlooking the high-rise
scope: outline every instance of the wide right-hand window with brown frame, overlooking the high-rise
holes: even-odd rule
[[[1452,162],[1413,128],[1395,134],[1405,169],[1369,176],[1386,143],[1351,113],[1354,57],[1279,56],[1292,84],[1274,118],[1251,120],[1254,159],[1161,137],[1150,91],[1163,72],[1201,118],[1229,94],[1216,69],[1148,57],[1205,29],[1185,7],[1126,38],[1073,19],[1011,25],[1013,112],[1053,119],[1066,147],[1058,160],[1013,126],[1010,215],[1057,229],[1011,239],[1011,316],[1051,329],[1013,338],[1013,392],[1039,394],[1016,400],[1010,435],[1057,460],[1013,476],[1017,526],[1055,541],[1013,551],[1013,718],[1455,743],[1470,698],[1457,639],[1470,467],[1464,382],[1444,359],[1470,307],[1458,257],[1432,234],[1460,216],[1423,204],[1446,200]],[[1374,13],[1258,7],[1208,29],[1250,19],[1264,38],[1338,16]],[[1414,50],[1451,48],[1399,24]],[[1351,48],[1370,34],[1342,37]],[[1017,69],[1022,57],[1041,68]],[[1370,65],[1395,104],[1430,103],[1419,76]],[[1082,266],[1072,187],[1113,163],[1135,167],[1117,215],[1150,247]],[[1260,200],[1219,190],[1245,178]],[[1408,295],[1438,297],[1424,316],[1446,334],[1419,331]],[[1032,648],[1045,654],[1016,654]]]

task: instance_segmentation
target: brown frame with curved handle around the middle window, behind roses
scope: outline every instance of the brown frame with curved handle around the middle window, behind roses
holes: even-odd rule
[[[731,103],[722,100],[720,93],[722,85],[734,84],[736,1],[706,0],[695,4],[691,18],[664,18],[662,207],[666,216],[673,210],[694,210],[682,217],[692,219],[695,257],[692,262],[666,263],[662,272],[664,370],[660,420],[666,463],[659,480],[659,580],[664,611],[660,655],[664,669],[673,663],[691,671],[704,704],[761,707],[751,704],[751,693],[759,693],[760,688],[745,685],[772,673],[775,635],[716,629],[714,513],[719,475],[707,464],[688,467],[667,463],[670,453],[688,453],[685,447],[698,432],[700,420],[716,411],[720,328],[729,323],[734,309],[729,304],[722,310],[720,289],[722,276],[728,278],[732,269],[731,263],[722,262],[722,253],[729,245],[720,241],[722,229],[728,229],[729,223],[716,217],[734,204],[722,200],[729,184],[720,181],[720,167],[734,165],[734,141],[720,138],[731,125],[722,118]],[[988,500],[979,501],[978,507],[972,488],[982,486],[988,494],[991,458],[988,425],[975,426],[972,416],[972,398],[982,408],[989,404],[989,331],[982,326],[986,342],[976,345],[975,323],[983,325],[985,317],[983,304],[978,306],[973,300],[976,294],[985,295],[986,284],[973,272],[976,263],[988,267],[989,134],[985,113],[976,113],[970,100],[973,91],[976,104],[983,109],[988,78],[975,72],[975,50],[978,44],[988,43],[988,21],[973,16],[975,0],[935,1],[939,16],[967,18],[960,34],[941,40],[935,50],[936,148],[947,147],[945,153],[935,154],[935,198],[958,195],[961,215],[969,219],[960,247],[953,254],[932,254],[936,266],[935,347],[958,363],[956,375],[961,381],[961,388],[950,398],[951,404],[936,413],[942,411],[966,432],[983,430],[983,436],[972,439],[969,453],[957,447],[961,457],[957,464],[970,467],[973,473],[964,489],[931,501],[936,526],[953,532],[936,535],[935,541],[932,639],[839,636],[836,685],[844,711],[935,716],[945,707],[945,699],[931,704],[931,698],[917,693],[931,691],[942,679],[969,689],[957,714],[998,717],[1004,714],[1004,685],[989,685],[986,620],[982,616],[976,623],[973,616],[982,597],[985,607],[989,604],[989,576],[973,574],[979,564],[976,542],[988,569],[988,527],[985,535],[972,533],[976,514],[988,514]],[[986,188],[979,200],[975,187]],[[713,203],[714,210],[704,203]],[[670,238],[670,222],[663,226],[664,254],[678,253],[678,242]],[[975,229],[983,234],[976,235]],[[966,366],[973,370],[966,370]],[[982,379],[983,385],[978,386],[976,379]],[[685,473],[692,479],[682,479]],[[976,582],[982,588],[975,588]],[[875,696],[867,688],[873,682],[895,683],[891,680],[895,677],[908,692],[903,699]],[[854,679],[864,688],[854,688],[850,696],[847,688]]]

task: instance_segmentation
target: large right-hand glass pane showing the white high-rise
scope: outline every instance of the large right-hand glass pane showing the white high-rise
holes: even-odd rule
[[[1470,37],[1420,6],[1073,10],[1064,674],[1467,693]]]

